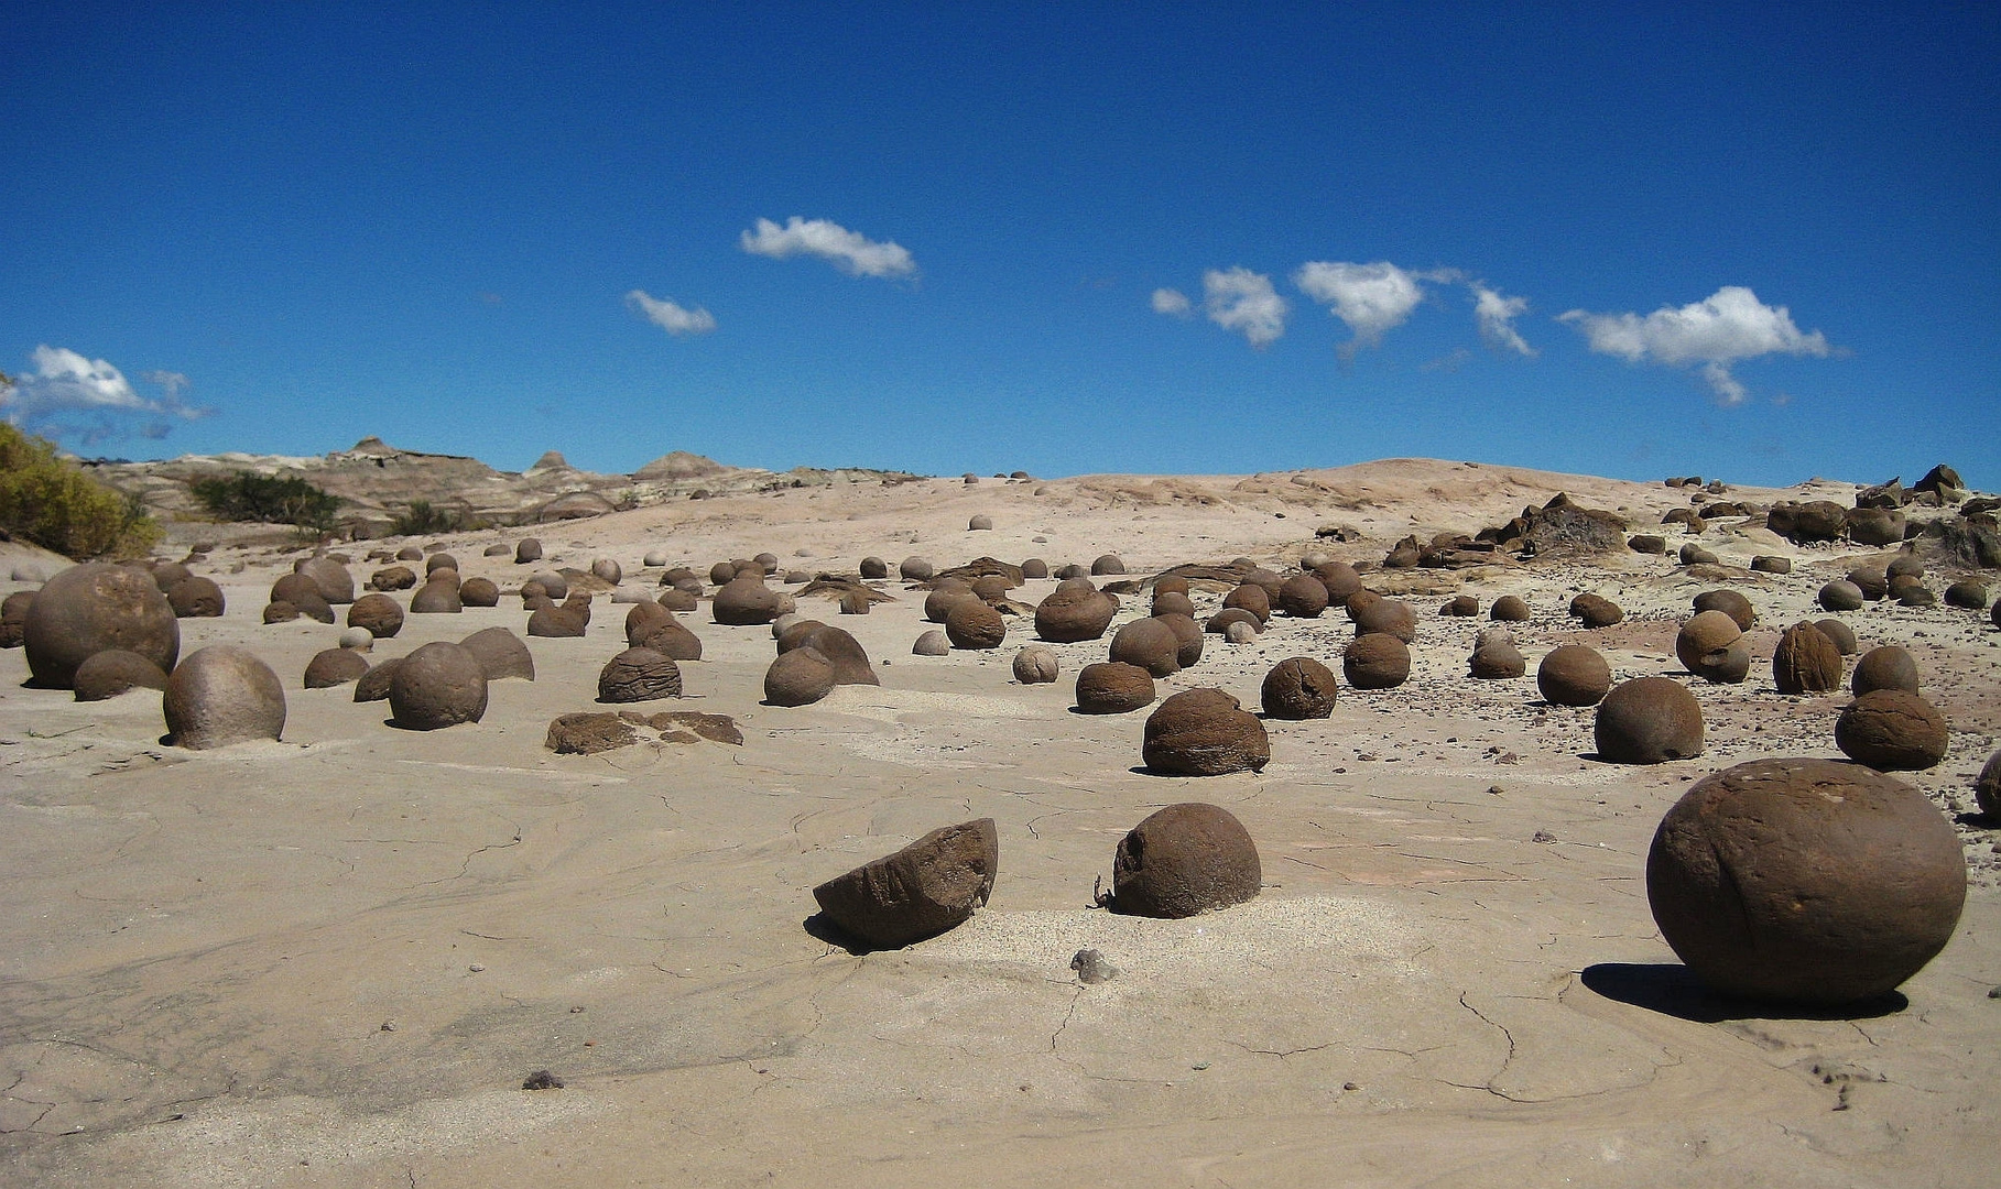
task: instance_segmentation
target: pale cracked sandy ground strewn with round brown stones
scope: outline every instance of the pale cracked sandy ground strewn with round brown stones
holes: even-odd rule
[[[704,572],[764,548],[806,570],[1117,550],[1135,576],[1239,554],[1283,572],[1311,548],[1373,560],[1407,532],[1475,530],[1555,490],[1627,508],[1639,530],[1687,504],[1661,484],[1399,460],[802,488],[536,534],[544,564],[612,556],[646,590],[654,546]],[[968,532],[972,514],[996,528]],[[1365,540],[1315,542],[1321,524]],[[182,544],[202,532],[176,526]],[[444,542],[506,588],[528,566],[480,548],[520,534]],[[1731,576],[1761,613],[1757,663],[1741,687],[1695,685],[1709,723],[1695,761],[1599,763],[1591,711],[1537,699],[1535,661],[1571,641],[1621,679],[1693,681],[1673,633],[1723,582],[1617,554],[1373,576],[1421,613],[1411,681],[1345,689],[1327,721],[1273,721],[1273,763],[1215,779],[1141,771],[1143,713],[1071,713],[1105,641],[1059,645],[1063,677],[1045,687],[1011,679],[1033,639],[1021,621],[996,651],[912,657],[934,625],[900,582],[868,617],[802,601],[882,679],[806,709],[758,703],[768,629],[718,627],[706,605],[682,617],[706,649],[682,665],[686,697],[638,709],[732,715],[742,747],[544,749],[550,719],[602,709],[596,673],[624,647],[626,611],[604,597],[586,639],[530,641],[536,681],[494,685],[482,723],[398,731],[350,687],[300,689],[338,629],[260,623],[302,552],[218,548],[196,570],[224,584],[228,615],[182,621],[182,655],[254,647],[288,687],[280,743],[166,747],[158,695],[78,705],[24,689],[22,653],[0,653],[0,1181],[1991,1185],[1995,831],[1961,821],[1959,933],[1865,1017],[1747,1015],[1693,985],[1655,931],[1645,851],[1691,781],[1839,755],[1847,699],[1779,697],[1769,657],[1867,552],[1731,528],[1703,544],[1733,566],[1753,552],[1797,566]],[[1629,621],[1577,629],[1565,607],[1585,588]],[[1437,619],[1453,592],[1529,599],[1531,677],[1467,677],[1487,621]],[[1209,611],[1221,590],[1195,599]],[[1143,611],[1129,599],[1121,623]],[[1919,657],[1953,745],[1911,781],[1963,819],[2001,733],[2001,633],[1945,607],[1847,619],[1865,647]],[[410,617],[376,655],[524,623],[514,599]],[[1323,617],[1275,619],[1253,645],[1211,637],[1161,693],[1213,685],[1255,709],[1277,661],[1339,671],[1349,635]],[[1119,837],[1177,801],[1249,827],[1263,895],[1189,921],[1093,909]],[[812,885],[970,817],[996,819],[1000,877],[968,925],[864,957],[808,933]],[[1079,983],[1081,947],[1119,977]],[[566,1087],[522,1091],[538,1069]]]

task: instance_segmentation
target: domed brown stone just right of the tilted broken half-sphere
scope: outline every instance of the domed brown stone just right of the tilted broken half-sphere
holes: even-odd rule
[[[1133,827],[1113,855],[1115,913],[1183,919],[1257,897],[1251,833],[1221,805],[1169,805]]]

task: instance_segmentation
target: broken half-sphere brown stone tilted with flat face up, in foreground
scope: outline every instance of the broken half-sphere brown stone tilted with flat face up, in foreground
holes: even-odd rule
[[[872,949],[900,949],[962,925],[986,903],[1000,869],[990,817],[922,839],[812,889],[826,919]]]

